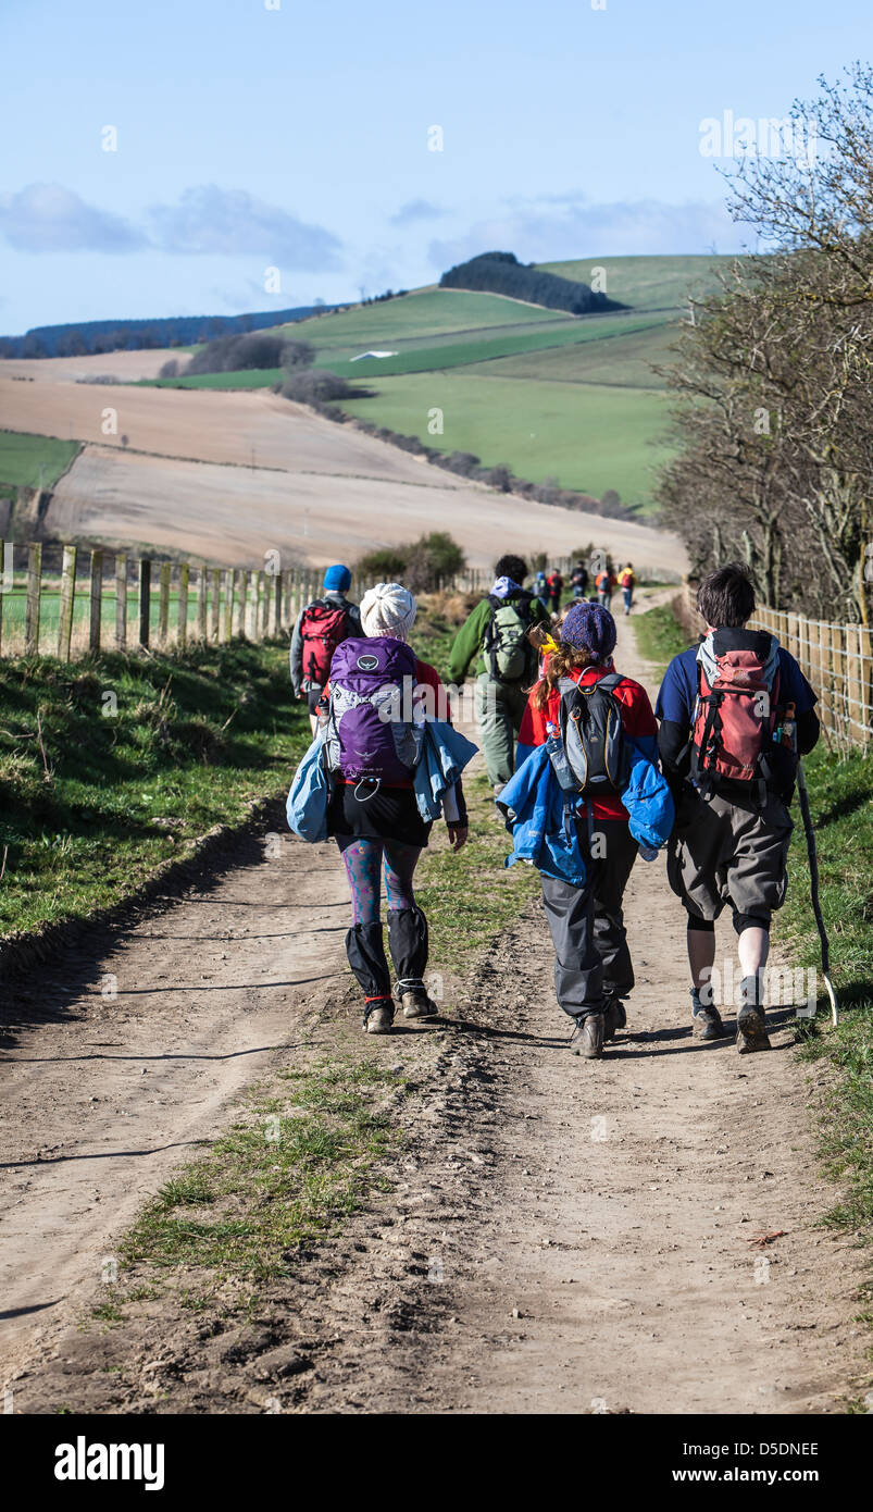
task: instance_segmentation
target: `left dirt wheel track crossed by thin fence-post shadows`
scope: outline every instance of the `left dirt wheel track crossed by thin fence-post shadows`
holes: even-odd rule
[[[71,1315],[109,1235],[293,1042],[343,966],[332,850],[304,874],[279,813],[214,883],[11,990],[0,1030],[0,1376]]]

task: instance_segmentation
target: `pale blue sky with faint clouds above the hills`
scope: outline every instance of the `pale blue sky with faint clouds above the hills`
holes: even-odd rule
[[[701,121],[867,59],[870,0],[595,5],[3,0],[0,331],[742,246]]]

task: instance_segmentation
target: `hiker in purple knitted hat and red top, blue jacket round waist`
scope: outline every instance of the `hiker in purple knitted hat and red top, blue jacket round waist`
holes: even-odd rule
[[[557,762],[559,780],[562,771],[568,776],[571,794],[566,823],[563,804],[556,810],[548,797],[539,797],[532,809],[532,818],[551,812],[541,871],[554,943],[554,990],[574,1019],[572,1052],[598,1060],[604,1043],[627,1024],[622,999],[634,984],[622,898],[637,838],[651,859],[672,829],[674,804],[656,768],[657,724],[648,694],[615,668],[616,627],[609,609],[583,599],[568,609],[554,635],[556,649],[521,724],[520,770],[500,807],[518,816],[536,747],[545,745],[550,762]],[[563,832],[578,848],[581,872],[554,866]],[[515,847],[518,853],[518,835]],[[536,863],[533,856],[524,859]]]

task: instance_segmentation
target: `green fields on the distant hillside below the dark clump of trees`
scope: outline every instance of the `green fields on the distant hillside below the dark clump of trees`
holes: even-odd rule
[[[657,467],[669,457],[666,383],[689,295],[717,289],[730,257],[613,257],[544,263],[591,281],[628,305],[571,316],[491,293],[420,289],[399,299],[282,327],[316,349],[316,364],[370,390],[344,401],[359,419],[417,435],[440,451],[504,463],[530,482],[556,479],[601,497],[615,488],[642,513],[654,507]],[[369,348],[388,358],[353,361]],[[169,380],[198,389],[257,389],[278,369]],[[429,411],[444,411],[444,432]]]

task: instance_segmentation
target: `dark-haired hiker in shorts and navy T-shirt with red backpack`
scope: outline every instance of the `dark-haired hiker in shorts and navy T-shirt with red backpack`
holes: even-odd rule
[[[742,971],[740,1054],[770,1048],[763,1001],[770,916],[785,898],[797,754],[819,739],[817,697],[773,635],[746,629],[754,609],[745,567],[704,578],[705,635],[674,656],[656,705],[677,800],[668,877],[687,915],[693,1031],[702,1040],[723,1033],[711,974],[714,921],[728,906]]]

